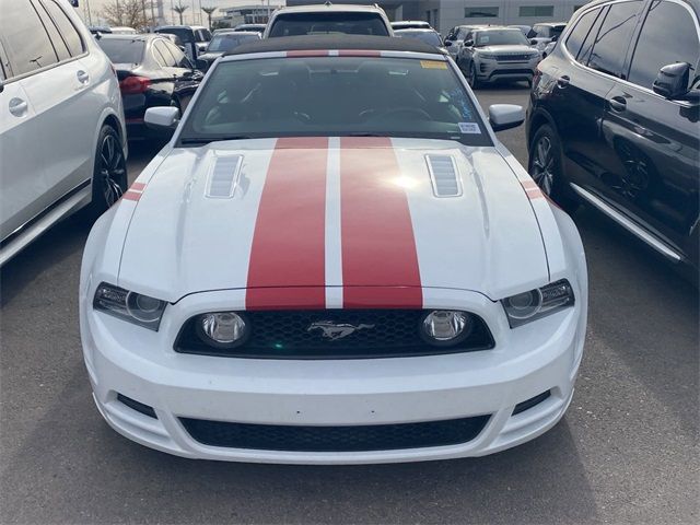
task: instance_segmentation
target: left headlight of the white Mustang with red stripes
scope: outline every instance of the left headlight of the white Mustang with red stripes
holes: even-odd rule
[[[130,292],[124,288],[101,283],[93,307],[151,330],[158,331],[165,310],[165,301]]]

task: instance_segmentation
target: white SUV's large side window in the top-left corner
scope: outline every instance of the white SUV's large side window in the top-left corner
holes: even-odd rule
[[[12,9],[2,10],[0,34],[15,75],[58,61],[44,24],[28,0],[13,0]]]

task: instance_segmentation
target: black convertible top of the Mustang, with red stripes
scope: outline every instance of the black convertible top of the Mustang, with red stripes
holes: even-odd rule
[[[393,38],[390,36],[359,35],[303,35],[264,38],[249,44],[242,44],[224,57],[231,55],[248,55],[250,52],[301,51],[330,49],[372,49],[377,51],[412,51],[441,55],[433,46],[416,38]]]

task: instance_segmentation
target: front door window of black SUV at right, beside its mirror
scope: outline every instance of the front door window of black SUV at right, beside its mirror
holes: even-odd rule
[[[654,1],[639,35],[629,81],[651,89],[662,67],[674,62],[696,67],[699,54],[698,33],[688,10],[677,3]]]

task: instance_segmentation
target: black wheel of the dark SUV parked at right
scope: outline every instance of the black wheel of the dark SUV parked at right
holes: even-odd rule
[[[565,185],[562,159],[559,135],[548,124],[540,126],[529,144],[527,173],[545,195],[564,211],[573,213],[579,201]]]

